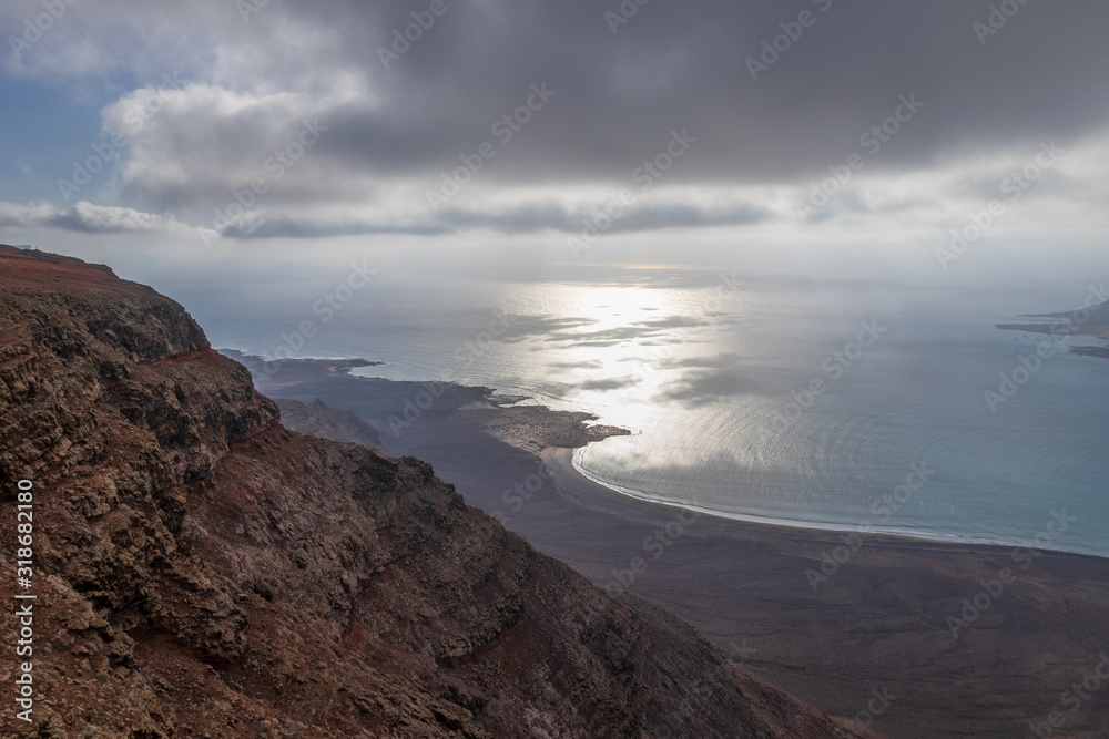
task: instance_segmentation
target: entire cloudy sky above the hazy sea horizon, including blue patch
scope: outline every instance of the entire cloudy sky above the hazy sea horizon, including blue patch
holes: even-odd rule
[[[0,242],[1071,280],[1103,0],[13,0]]]

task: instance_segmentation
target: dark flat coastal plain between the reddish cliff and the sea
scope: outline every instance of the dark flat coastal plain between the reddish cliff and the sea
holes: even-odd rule
[[[566,422],[545,438],[550,411],[515,407],[519,423],[490,425],[486,389],[442,386],[393,433],[389,418],[426,386],[314,361],[266,377],[237,358],[263,392],[353,410],[387,453],[427,460],[467,503],[597,585],[669,608],[745,667],[883,736],[1032,736],[1109,647],[1107,560],[699,515],[581,475]],[[1045,531],[1059,521],[1045,511]],[[1058,736],[1109,732],[1105,687],[1066,708]],[[879,715],[875,695],[888,704]]]

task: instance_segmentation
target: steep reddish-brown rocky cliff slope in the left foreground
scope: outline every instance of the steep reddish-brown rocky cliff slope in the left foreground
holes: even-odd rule
[[[284,429],[172,300],[0,247],[6,558],[20,480],[35,702],[4,736],[854,736],[427,464]]]

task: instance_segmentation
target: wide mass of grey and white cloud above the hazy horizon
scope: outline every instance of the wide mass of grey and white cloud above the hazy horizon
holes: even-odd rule
[[[705,0],[696,13],[660,2],[613,28],[606,12],[619,4],[449,0],[386,68],[409,3],[287,0],[244,17],[225,0],[101,0],[65,6],[4,64],[110,96],[100,135],[128,141],[105,201],[231,239],[573,235],[623,191],[634,202],[607,234],[804,234],[797,204],[865,151],[902,95],[922,110],[805,225],[942,232],[964,195],[988,201],[997,175],[985,160],[1109,131],[1109,45],[1075,32],[1107,27],[1107,3],[1029,3],[985,44],[973,24],[989,0]],[[802,9],[815,24],[752,79],[749,60]],[[0,9],[6,35],[24,33],[27,12]],[[166,74],[182,82],[160,91]],[[552,93],[538,109],[537,85]],[[154,95],[159,110],[135,117]],[[322,129],[311,147],[298,146],[305,125]],[[641,184],[635,173],[668,162],[685,130],[696,143]],[[485,144],[491,156],[478,155]],[[475,161],[460,192],[431,207],[428,192]],[[1060,171],[1037,197],[1067,177],[1092,193],[1100,162]],[[1089,224],[1095,199],[1059,207]]]

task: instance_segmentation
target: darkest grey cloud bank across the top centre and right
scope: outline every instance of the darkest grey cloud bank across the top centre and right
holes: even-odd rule
[[[489,141],[488,177],[621,182],[665,145],[672,129],[700,143],[673,179],[801,177],[861,148],[901,95],[925,103],[882,163],[927,163],[978,144],[1074,136],[1105,124],[1109,6],[1030,2],[983,45],[984,0],[889,3],[653,2],[613,35],[617,2],[448,3],[424,38],[385,70],[378,47],[420,3],[354,2],[306,23],[335,24],[350,64],[370,70],[384,106],[336,111],[328,155],[384,172],[457,166]],[[342,8],[342,10],[339,9]],[[781,60],[752,80],[780,23],[813,12]],[[500,144],[491,132],[532,84],[554,97]],[[909,132],[909,129],[912,131]]]

